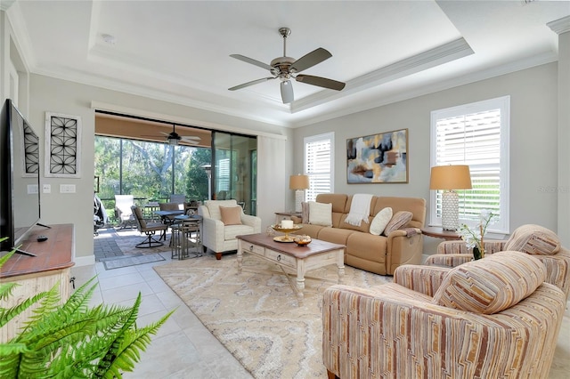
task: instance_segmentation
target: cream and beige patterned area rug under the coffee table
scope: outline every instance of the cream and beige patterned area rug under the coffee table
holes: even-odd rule
[[[281,269],[247,254],[243,271],[236,255],[221,261],[204,256],[154,268],[200,321],[256,378],[326,378],[322,365],[322,292],[337,283],[330,265],[309,271],[305,300]],[[295,277],[292,278],[295,280]],[[345,267],[344,284],[362,287],[391,282]]]

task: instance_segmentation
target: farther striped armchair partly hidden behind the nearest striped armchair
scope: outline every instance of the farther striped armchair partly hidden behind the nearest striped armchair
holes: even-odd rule
[[[560,239],[551,230],[540,225],[527,224],[517,228],[508,240],[485,241],[486,254],[515,250],[532,254],[546,266],[546,282],[558,286],[566,299],[570,295],[570,250],[560,245]],[[469,262],[473,254],[464,241],[445,241],[437,246],[437,254],[428,256],[426,264],[456,267]]]

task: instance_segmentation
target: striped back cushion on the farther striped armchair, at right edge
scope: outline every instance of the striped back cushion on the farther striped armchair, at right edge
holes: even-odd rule
[[[504,250],[552,255],[560,250],[560,239],[556,233],[540,225],[523,225],[513,232],[505,243]]]

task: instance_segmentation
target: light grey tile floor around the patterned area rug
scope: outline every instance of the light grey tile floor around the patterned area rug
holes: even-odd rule
[[[81,286],[97,275],[99,286],[92,304],[118,303],[130,305],[137,294],[142,294],[139,313],[141,325],[158,320],[168,310],[175,313],[152,338],[151,345],[142,352],[141,362],[125,378],[197,378],[240,379],[252,376],[202,325],[191,310],[152,269],[171,262],[170,252],[161,253],[162,262],[152,262],[122,269],[105,270],[102,262],[91,266],[73,267],[76,286]],[[199,259],[199,258],[194,258]],[[556,351],[563,366],[551,367],[550,379],[570,377],[570,310],[560,330]],[[566,357],[566,358],[565,358]]]

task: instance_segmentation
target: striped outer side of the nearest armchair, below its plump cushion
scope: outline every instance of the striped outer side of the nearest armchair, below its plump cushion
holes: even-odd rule
[[[558,288],[542,284],[511,309],[484,315],[416,300],[397,287],[325,290],[322,361],[330,373],[343,379],[548,377],[565,307]],[[525,352],[514,354],[521,346]]]

